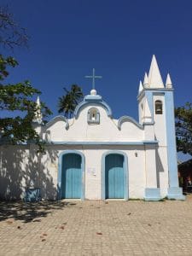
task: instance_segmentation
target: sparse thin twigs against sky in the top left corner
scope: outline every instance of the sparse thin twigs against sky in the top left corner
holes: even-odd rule
[[[8,7],[0,6],[0,45],[14,49],[15,46],[27,46],[27,42],[26,29],[15,21]]]

